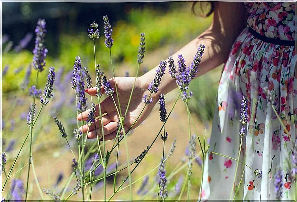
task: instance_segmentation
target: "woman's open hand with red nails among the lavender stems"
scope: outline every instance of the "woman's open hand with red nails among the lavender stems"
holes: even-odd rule
[[[126,111],[126,107],[129,101],[134,79],[135,77],[115,77],[115,79],[111,78],[109,80],[111,87],[114,88],[114,90],[115,90],[115,81],[117,83],[118,96],[120,100],[122,116],[124,116]],[[134,121],[139,116],[142,108],[144,107],[145,103],[143,102],[143,96],[145,94],[149,96],[147,85],[141,80],[142,80],[141,78],[136,78],[135,87],[133,90],[133,95],[130,101],[129,109],[123,122],[125,131],[127,131],[132,126]],[[86,92],[91,96],[95,96],[97,90],[96,90],[96,87],[94,87],[86,90]],[[101,92],[104,93],[103,88],[101,89]],[[113,94],[113,97],[115,99],[116,105],[118,106],[116,92]],[[158,101],[158,98],[156,95],[152,94],[151,97],[153,98],[153,102],[145,107],[144,111],[141,113],[141,116],[133,125],[133,128],[136,128],[139,124],[141,124],[146,119],[147,116],[149,116],[149,113],[152,111],[154,105]],[[93,99],[98,99],[98,98],[94,97]],[[115,104],[112,97],[109,96],[101,102],[101,112],[102,114],[104,114],[105,112],[107,113],[107,115],[102,117],[103,129],[104,129],[104,135],[105,135],[104,139],[105,140],[114,139],[116,136],[118,112],[115,108]],[[89,113],[89,109],[79,114],[77,117],[78,120],[79,121],[81,121],[82,119],[87,120],[88,113]],[[96,105],[95,116],[96,117],[99,116],[99,105]],[[100,127],[101,124],[99,120],[100,118],[97,118],[97,120],[95,121],[96,128],[94,123],[90,126],[89,132],[88,132],[88,138],[96,138],[96,134],[97,135],[99,135],[99,133],[102,134],[102,129]],[[83,127],[80,127],[80,130],[83,133],[86,133],[88,130],[88,125],[86,124]]]

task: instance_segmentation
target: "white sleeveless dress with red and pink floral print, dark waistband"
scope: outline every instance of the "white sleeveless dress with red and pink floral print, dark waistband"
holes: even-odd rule
[[[229,200],[235,195],[239,200],[274,200],[273,176],[280,167],[281,198],[294,200],[297,187],[290,179],[289,163],[297,134],[295,3],[244,4],[248,27],[235,40],[220,79],[201,198]],[[267,104],[265,87],[287,130]],[[243,96],[248,100],[248,121],[239,148]],[[232,186],[239,150],[242,163]]]

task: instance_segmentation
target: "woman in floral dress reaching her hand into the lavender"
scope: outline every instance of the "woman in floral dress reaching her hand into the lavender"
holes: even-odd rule
[[[288,179],[288,162],[297,133],[297,71],[295,55],[295,4],[292,2],[216,2],[212,3],[213,21],[201,35],[186,44],[172,57],[175,61],[183,54],[190,65],[199,44],[204,44],[205,54],[197,76],[221,63],[225,63],[214,113],[209,151],[237,158],[239,151],[239,113],[235,110],[241,99],[234,99],[238,92],[248,99],[248,124],[243,137],[241,159],[250,169],[239,164],[234,184],[236,161],[216,154],[207,154],[205,162],[203,199],[233,198],[234,190],[242,177],[237,198],[244,200],[275,199],[273,186],[275,168],[280,166],[284,177],[281,188],[282,199],[294,199],[295,183]],[[248,27],[247,27],[248,26]],[[231,51],[230,51],[231,49]],[[157,68],[157,67],[156,67]],[[148,94],[149,82],[155,76],[156,68],[137,78],[129,113],[124,121],[127,130],[137,118]],[[114,86],[114,79],[111,79]],[[116,77],[121,107],[124,111],[134,82],[131,77]],[[271,106],[267,104],[264,87],[274,97],[273,106],[280,115],[284,130]],[[134,127],[149,115],[160,93],[175,89],[175,80],[168,70],[162,78],[153,103],[148,105]],[[90,95],[96,89],[88,89]],[[115,138],[117,112],[110,98],[102,102],[105,140]],[[83,113],[87,118],[88,112]],[[78,116],[81,117],[81,116]],[[99,125],[99,124],[97,124]],[[84,128],[84,132],[86,132]],[[98,130],[98,129],[97,129]],[[91,127],[89,138],[95,138],[95,128]],[[259,173],[261,173],[260,175]],[[257,177],[256,177],[257,176]]]

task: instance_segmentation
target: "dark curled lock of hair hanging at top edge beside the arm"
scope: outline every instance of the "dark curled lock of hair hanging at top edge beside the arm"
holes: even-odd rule
[[[209,17],[214,11],[215,2],[194,2],[192,12],[199,17]]]

